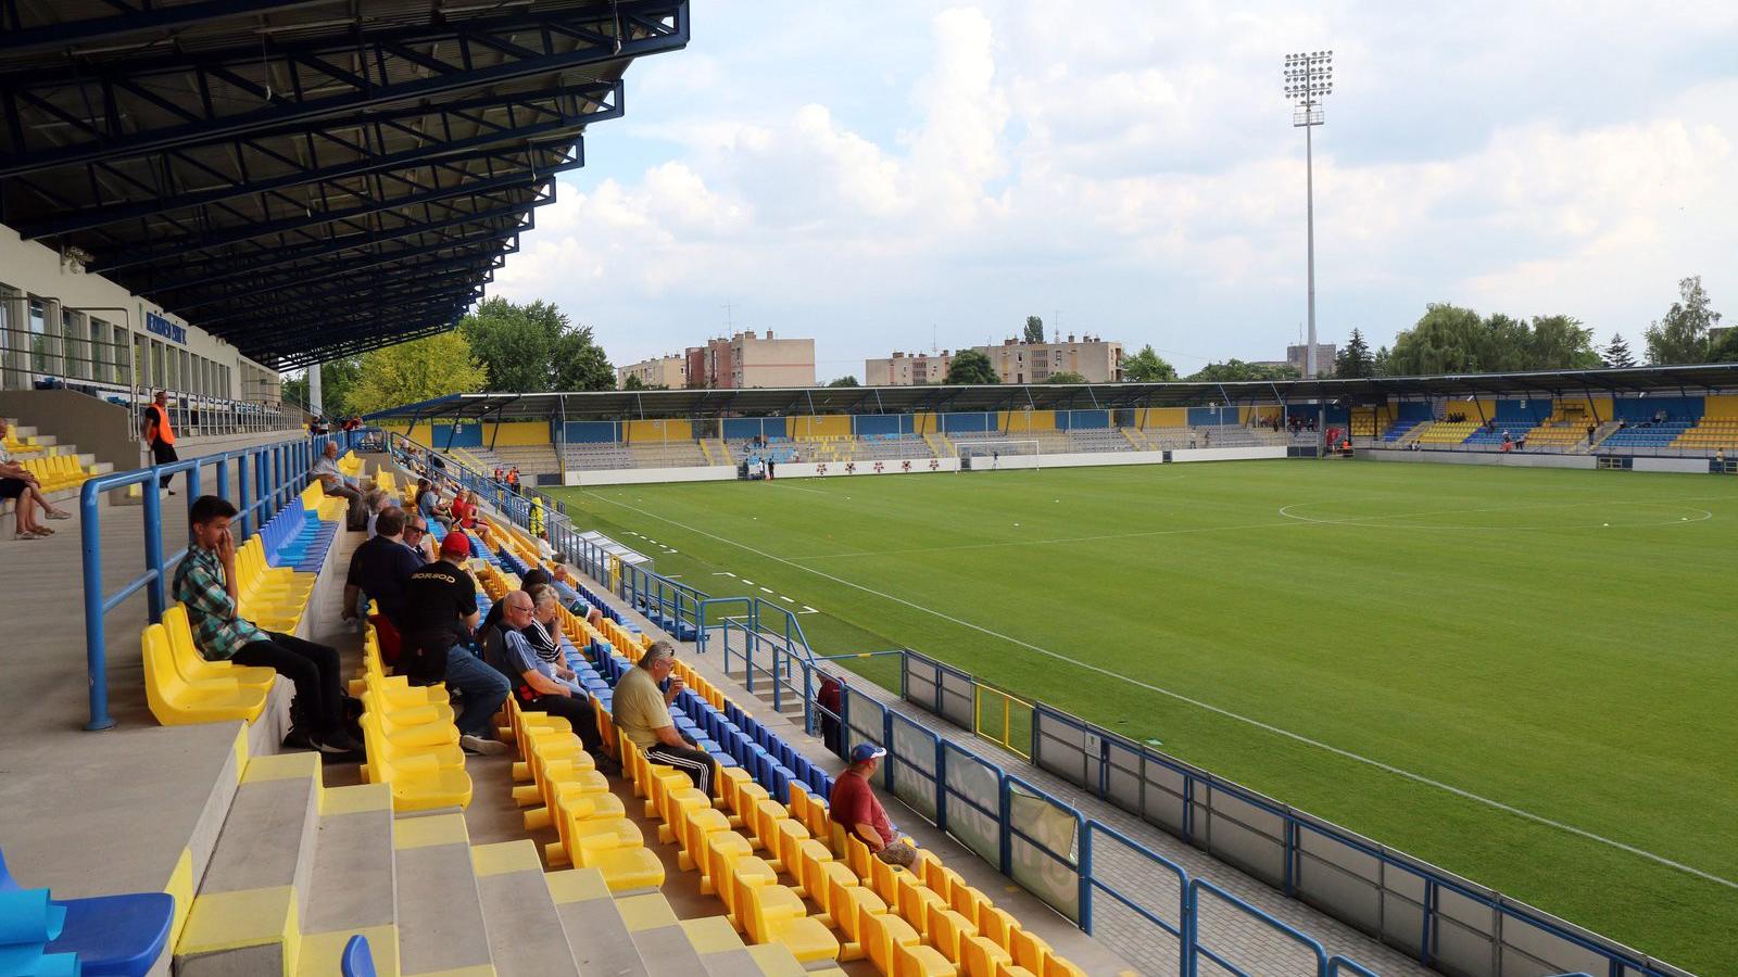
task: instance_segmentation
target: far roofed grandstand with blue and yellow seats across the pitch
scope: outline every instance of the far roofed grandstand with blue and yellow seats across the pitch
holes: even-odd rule
[[[1100,454],[1128,455],[1124,462],[1177,450],[1288,457],[1342,443],[1366,457],[1408,450],[1703,469],[1738,452],[1738,396],[1729,389],[1738,389],[1738,370],[1708,365],[1277,382],[474,393],[368,421],[481,471],[518,468],[535,485],[718,478],[766,461],[843,473],[846,464],[855,471],[985,452],[1093,464]]]

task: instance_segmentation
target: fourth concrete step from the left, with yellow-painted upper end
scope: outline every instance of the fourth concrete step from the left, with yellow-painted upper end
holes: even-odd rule
[[[579,977],[561,916],[544,881],[537,843],[471,847],[488,951],[501,977]],[[589,977],[589,972],[587,972]]]

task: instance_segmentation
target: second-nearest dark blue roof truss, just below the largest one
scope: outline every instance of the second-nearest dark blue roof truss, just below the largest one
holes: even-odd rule
[[[587,97],[596,94],[598,85],[582,83],[568,85],[553,90],[551,94],[558,97],[580,99],[580,104],[605,106],[596,108],[591,113],[572,113],[572,111],[554,111],[551,108],[539,108],[539,101],[546,101],[549,94],[535,96],[530,99],[527,94],[520,96],[490,96],[487,99],[471,99],[462,106],[419,106],[405,118],[428,118],[433,116],[436,125],[429,125],[433,132],[414,132],[428,139],[426,144],[414,150],[403,150],[398,153],[372,153],[365,144],[353,144],[346,139],[339,139],[334,132],[308,132],[302,130],[301,136],[311,139],[320,139],[320,143],[309,143],[306,148],[320,153],[327,144],[334,144],[339,151],[355,153],[355,158],[344,160],[341,163],[330,163],[325,167],[299,169],[297,172],[255,177],[255,179],[233,179],[229,174],[209,172],[216,186],[207,186],[198,191],[156,195],[149,189],[143,189],[144,196],[132,202],[104,202],[103,207],[83,207],[75,209],[63,202],[56,214],[40,219],[21,219],[14,221],[10,226],[24,240],[47,238],[57,235],[68,235],[75,231],[87,231],[92,228],[101,228],[106,224],[118,224],[127,221],[139,221],[156,214],[167,214],[174,210],[189,210],[195,207],[203,207],[209,203],[219,203],[224,200],[235,200],[240,196],[254,196],[264,193],[283,191],[304,184],[341,181],[363,176],[391,174],[400,170],[414,170],[431,165],[464,165],[474,160],[499,156],[502,146],[513,146],[513,151],[525,151],[527,146],[535,146],[542,141],[558,141],[565,136],[574,136],[575,146],[584,148],[579,143],[579,132],[591,122],[603,122],[610,118],[620,118],[622,115],[622,85],[614,82],[608,85],[608,92],[601,97]],[[607,101],[605,101],[607,99]],[[445,136],[452,127],[452,118],[457,116],[461,123],[480,125],[478,118],[466,113],[487,111],[492,108],[504,108],[509,111],[523,110],[525,113],[542,113],[551,118],[541,122],[518,122],[511,125],[502,125],[487,132],[480,132],[464,139],[450,139]],[[396,120],[386,118],[386,123],[395,123]],[[368,115],[360,115],[351,120],[339,120],[328,123],[332,130],[348,130],[370,125]],[[405,130],[412,132],[412,130]],[[262,148],[257,141],[259,137],[236,141],[228,144],[226,156],[247,158],[247,156],[268,156],[280,158],[285,163],[299,165],[292,156],[282,153],[271,153]],[[490,148],[494,146],[494,148]],[[546,151],[560,153],[563,146],[551,144]],[[579,162],[584,162],[584,153],[579,153]],[[188,165],[193,169],[205,169],[195,165],[184,153],[174,151],[165,153],[160,160],[162,167]],[[19,184],[30,188],[28,181],[19,179]]]

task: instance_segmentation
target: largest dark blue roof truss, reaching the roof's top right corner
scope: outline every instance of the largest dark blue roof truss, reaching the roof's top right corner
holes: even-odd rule
[[[323,85],[346,85],[351,87],[349,92],[318,97],[318,99],[290,99],[285,92],[273,92],[259,83],[249,82],[247,78],[236,75],[228,63],[238,66],[252,68],[261,61],[261,56],[252,52],[222,52],[209,57],[174,57],[160,59],[156,63],[148,61],[146,64],[134,64],[134,73],[149,75],[153,70],[176,71],[182,75],[193,71],[198,78],[200,90],[209,85],[209,76],[216,76],[231,89],[242,89],[243,92],[252,92],[266,108],[243,111],[228,116],[210,116],[200,122],[188,122],[182,125],[170,125],[167,129],[146,129],[139,132],[125,132],[120,129],[120,113],[104,113],[106,127],[94,123],[73,125],[75,129],[85,130],[90,139],[76,143],[71,146],[59,146],[52,150],[38,150],[33,153],[12,153],[0,158],[0,177],[14,177],[30,172],[38,172],[54,167],[92,163],[97,160],[129,158],[158,150],[170,150],[177,146],[189,146],[196,143],[210,143],[219,137],[242,136],[257,129],[283,125],[297,120],[318,120],[334,115],[344,115],[348,111],[368,108],[368,106],[389,106],[396,103],[405,103],[410,99],[438,99],[443,96],[452,96],[459,92],[476,90],[488,85],[504,85],[525,78],[535,78],[539,75],[551,75],[558,71],[574,71],[591,66],[601,66],[612,61],[629,61],[633,57],[641,57],[648,54],[657,54],[662,50],[678,50],[688,43],[688,3],[687,0],[674,0],[666,3],[622,3],[624,9],[636,7],[645,10],[657,10],[671,23],[653,21],[645,16],[636,17],[634,23],[641,24],[647,33],[640,37],[610,37],[605,33],[591,31],[582,28],[582,23],[596,21],[596,14],[575,16],[572,10],[567,12],[549,12],[549,14],[530,14],[521,17],[502,17],[499,21],[469,21],[469,23],[452,23],[445,26],[419,26],[400,31],[360,31],[356,37],[344,35],[337,38],[341,43],[337,47],[349,57],[362,54],[365,64],[379,64],[384,71],[388,61],[403,61],[401,56],[391,54],[388,45],[412,45],[412,43],[438,43],[452,45],[461,56],[461,63],[440,63],[436,59],[428,59],[422,63],[424,68],[434,71],[428,76],[414,76],[410,80],[389,82],[384,76],[381,80],[372,78],[353,78],[344,76],[337,70],[327,73],[325,80],[309,80],[309,83]],[[513,37],[521,37],[527,33],[535,35],[541,43],[537,50],[525,50],[527,56],[518,59],[507,59],[501,64],[488,68],[471,68],[473,43],[488,47],[490,50],[502,50],[501,43],[485,43],[490,31],[504,31]],[[572,50],[560,50],[556,38],[565,38],[575,42]],[[488,38],[492,40],[492,38]],[[457,42],[457,43],[454,43]],[[280,45],[276,54],[280,59],[289,59],[294,64],[309,63],[306,47],[315,50],[322,47],[332,47],[332,38],[311,45]],[[516,47],[516,45],[514,45]],[[262,52],[269,61],[271,45],[266,45]],[[506,57],[506,56],[504,56]],[[433,64],[443,64],[445,71],[436,71]],[[85,90],[87,82],[92,75],[97,80],[106,80],[109,85],[99,85],[94,92],[99,97],[113,99],[111,83],[116,78],[125,78],[123,66],[80,66],[71,75],[63,73],[43,73],[28,71],[23,75],[0,75],[0,92],[3,92],[9,101],[31,97],[36,110],[43,110],[45,103],[31,96],[31,89],[43,89],[52,85],[63,85],[57,94],[64,96],[64,85],[78,85]],[[299,83],[297,89],[304,85]],[[90,94],[90,92],[87,92]],[[111,103],[113,104],[113,103]],[[76,122],[76,120],[70,120]]]

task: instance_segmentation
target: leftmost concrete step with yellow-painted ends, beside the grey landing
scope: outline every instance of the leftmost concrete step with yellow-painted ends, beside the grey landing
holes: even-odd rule
[[[176,944],[176,974],[294,974],[320,822],[320,758],[255,756]]]

